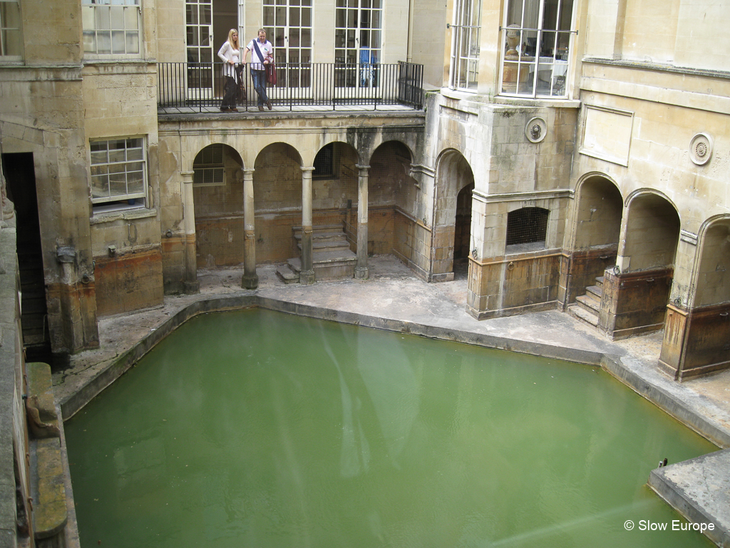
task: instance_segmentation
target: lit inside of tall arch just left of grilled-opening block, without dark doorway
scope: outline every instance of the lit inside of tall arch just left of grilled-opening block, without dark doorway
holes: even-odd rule
[[[474,184],[472,167],[461,152],[447,149],[439,154],[436,161],[431,281],[453,279],[457,197],[461,189]],[[471,219],[471,210],[469,210],[469,219]],[[471,229],[469,231],[471,232]]]

